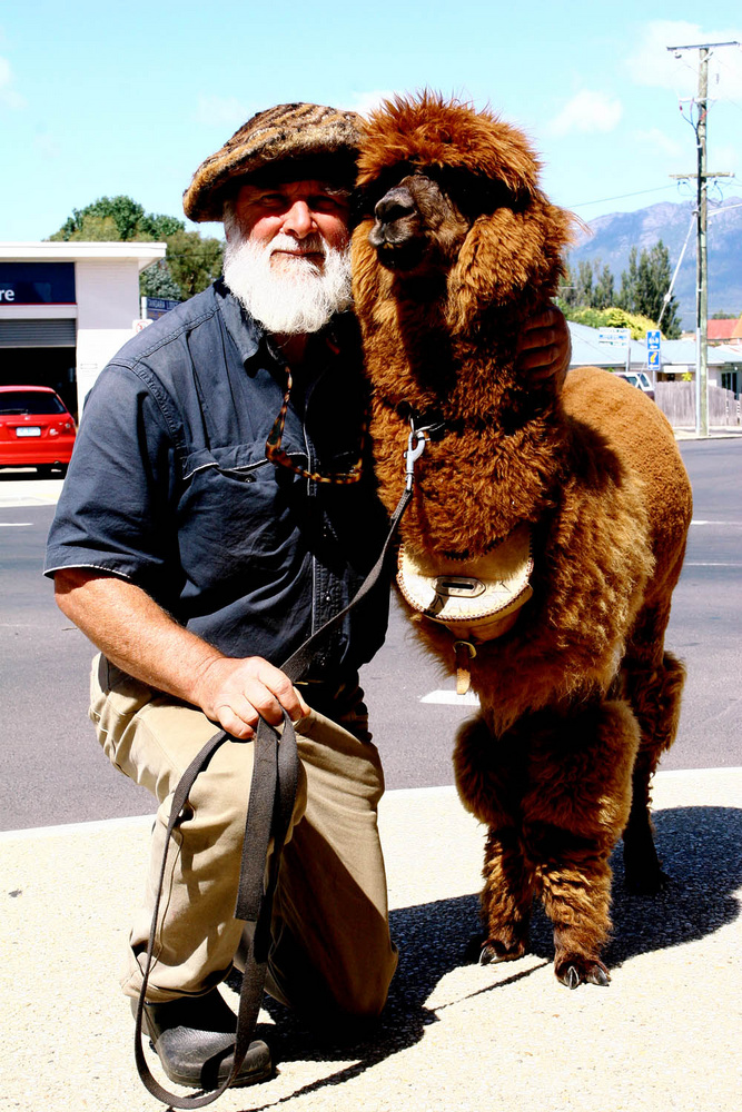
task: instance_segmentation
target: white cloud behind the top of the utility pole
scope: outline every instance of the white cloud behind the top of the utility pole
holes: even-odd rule
[[[698,23],[653,20],[644,38],[626,59],[626,69],[636,85],[671,89],[677,97],[692,97],[699,88],[698,50],[672,52],[667,47],[714,42],[742,42],[742,26],[705,30]],[[719,47],[709,62],[709,97],[735,100],[742,96],[742,49]]]

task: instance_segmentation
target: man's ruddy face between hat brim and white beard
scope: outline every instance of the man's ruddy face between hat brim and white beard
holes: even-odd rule
[[[338,250],[348,245],[348,200],[323,181],[245,185],[235,215],[245,238],[265,247],[276,241],[270,251],[273,270],[290,271],[294,260],[303,259],[321,272],[325,255],[317,237]]]

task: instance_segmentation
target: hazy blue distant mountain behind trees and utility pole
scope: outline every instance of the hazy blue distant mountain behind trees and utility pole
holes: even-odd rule
[[[687,229],[683,264],[673,289],[680,305],[683,328],[695,327],[695,217],[694,202],[650,205],[636,212],[613,212],[590,221],[590,232],[581,237],[570,261],[600,259],[607,264],[615,278],[616,291],[621,274],[629,266],[629,252],[636,247],[651,248],[659,239],[670,251],[671,272],[677,265]],[[714,214],[714,215],[712,215]],[[709,316],[742,312],[742,202],[731,198],[721,205],[709,205]]]

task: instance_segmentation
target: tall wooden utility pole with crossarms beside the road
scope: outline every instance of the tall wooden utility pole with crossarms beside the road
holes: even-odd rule
[[[681,50],[699,51],[699,95],[696,98],[698,121],[694,126],[698,155],[695,175],[672,175],[672,177],[696,178],[696,290],[695,290],[695,435],[709,436],[709,258],[706,245],[708,180],[731,177],[726,173],[706,171],[706,117],[709,115],[709,56],[720,47],[739,47],[739,42],[696,42],[692,46],[667,47],[676,57]]]

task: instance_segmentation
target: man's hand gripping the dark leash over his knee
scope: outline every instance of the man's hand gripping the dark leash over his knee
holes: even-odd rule
[[[309,714],[288,676],[260,656],[210,661],[194,685],[191,699],[234,737],[254,737],[259,718],[280,725],[281,707],[293,722]]]

